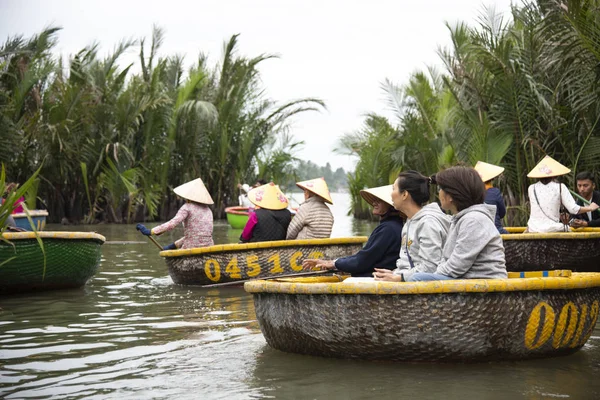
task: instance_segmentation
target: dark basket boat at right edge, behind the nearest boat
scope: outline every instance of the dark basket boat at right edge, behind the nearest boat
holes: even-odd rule
[[[536,271],[570,269],[600,272],[600,229],[580,228],[571,232],[523,233],[525,228],[507,228],[502,235],[506,269]]]

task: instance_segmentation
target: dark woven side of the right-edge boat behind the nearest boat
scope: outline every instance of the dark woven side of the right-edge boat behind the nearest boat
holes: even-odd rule
[[[508,271],[600,272],[599,239],[504,240]]]

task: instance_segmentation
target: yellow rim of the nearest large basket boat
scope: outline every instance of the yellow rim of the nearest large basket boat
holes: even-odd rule
[[[431,282],[355,282],[342,283],[334,277],[313,279],[306,283],[302,278],[285,281],[254,280],[244,283],[248,293],[284,294],[343,294],[343,295],[415,295],[442,293],[492,293],[540,290],[569,290],[600,287],[600,273],[574,272],[570,277],[507,278],[507,279],[456,279]]]

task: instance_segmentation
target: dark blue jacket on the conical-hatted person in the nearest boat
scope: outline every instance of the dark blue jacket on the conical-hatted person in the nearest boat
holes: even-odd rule
[[[352,276],[372,276],[375,268],[393,270],[400,254],[402,218],[390,216],[373,230],[369,240],[358,253],[338,258],[335,267]]]

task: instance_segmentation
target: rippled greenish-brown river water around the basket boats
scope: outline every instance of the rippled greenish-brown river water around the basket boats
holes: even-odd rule
[[[334,196],[333,236],[373,229],[345,215],[346,195]],[[578,353],[546,360],[415,364],[286,354],[266,344],[243,289],[174,285],[134,226],[47,230],[106,236],[100,271],[82,289],[0,297],[0,398],[600,398],[598,328]],[[215,221],[214,232],[217,243],[240,234],[225,221]]]

